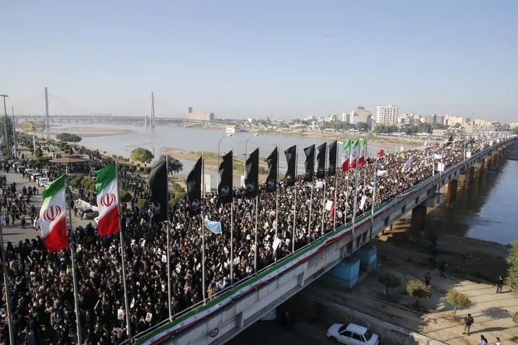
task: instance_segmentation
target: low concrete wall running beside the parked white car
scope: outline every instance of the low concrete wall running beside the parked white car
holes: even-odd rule
[[[375,317],[360,313],[354,309],[329,302],[323,298],[311,295],[302,291],[287,302],[289,309],[304,315],[314,315],[318,320],[327,322],[331,325],[338,324],[359,324],[369,328],[370,331],[380,337],[380,342],[384,344],[397,345],[447,345],[439,340],[426,337],[419,333],[409,331],[408,329],[394,324],[389,324]]]

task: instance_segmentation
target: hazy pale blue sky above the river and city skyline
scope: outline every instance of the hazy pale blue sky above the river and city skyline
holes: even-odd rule
[[[147,113],[154,91],[157,116],[395,104],[511,122],[517,18],[517,0],[7,1],[0,93],[17,112],[43,113],[48,86],[99,113]]]

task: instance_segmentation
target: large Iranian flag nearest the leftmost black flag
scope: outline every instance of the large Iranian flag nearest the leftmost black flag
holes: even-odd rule
[[[118,233],[118,183],[117,168],[110,165],[97,171],[95,179],[99,221],[97,222],[99,236],[104,237]]]

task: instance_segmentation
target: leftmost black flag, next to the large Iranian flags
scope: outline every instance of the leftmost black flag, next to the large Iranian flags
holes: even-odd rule
[[[155,165],[149,173],[149,193],[152,221],[167,220],[167,167],[165,162]]]

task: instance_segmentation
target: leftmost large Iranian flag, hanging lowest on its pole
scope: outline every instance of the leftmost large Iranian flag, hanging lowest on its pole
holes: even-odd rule
[[[43,204],[39,211],[41,237],[48,253],[68,247],[67,200],[65,198],[65,175],[48,185],[43,191]]]

